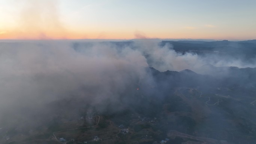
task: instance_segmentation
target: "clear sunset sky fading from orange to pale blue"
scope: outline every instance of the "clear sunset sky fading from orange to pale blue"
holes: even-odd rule
[[[255,0],[0,0],[0,39],[256,39]]]

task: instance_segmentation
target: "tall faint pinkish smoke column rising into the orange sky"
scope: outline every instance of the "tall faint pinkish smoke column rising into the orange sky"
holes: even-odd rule
[[[66,29],[60,19],[58,0],[25,0],[20,1],[20,33],[28,34],[22,39],[51,39],[50,36],[65,33]],[[34,37],[36,36],[36,37]]]

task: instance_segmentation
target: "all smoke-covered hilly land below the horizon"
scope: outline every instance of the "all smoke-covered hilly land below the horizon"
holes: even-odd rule
[[[255,144],[255,40],[1,42],[0,144]]]

